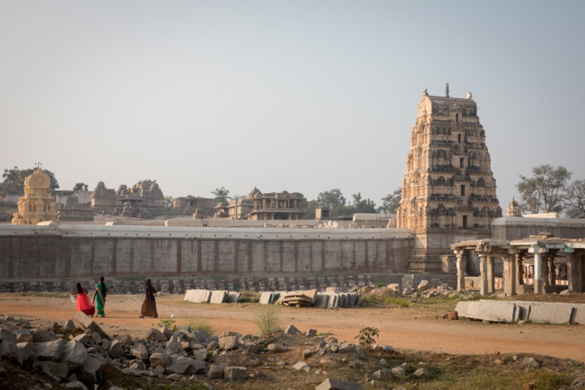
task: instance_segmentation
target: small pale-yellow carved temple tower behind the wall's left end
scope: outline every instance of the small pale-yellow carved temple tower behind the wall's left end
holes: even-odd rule
[[[51,179],[39,166],[25,178],[25,195],[18,199],[18,212],[13,214],[12,225],[56,220],[57,204],[51,196]]]

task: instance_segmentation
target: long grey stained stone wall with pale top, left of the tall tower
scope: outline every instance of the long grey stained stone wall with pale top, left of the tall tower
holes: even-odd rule
[[[400,229],[0,225],[0,279],[391,274],[413,246]]]

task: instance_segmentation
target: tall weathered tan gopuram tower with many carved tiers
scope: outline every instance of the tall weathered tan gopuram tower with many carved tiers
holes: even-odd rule
[[[406,165],[396,219],[415,235],[409,270],[440,271],[450,244],[490,237],[502,215],[471,93],[451,98],[449,84],[445,96],[422,92]]]

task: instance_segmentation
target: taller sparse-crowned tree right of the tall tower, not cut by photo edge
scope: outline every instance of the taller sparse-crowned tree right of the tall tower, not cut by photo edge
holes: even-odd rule
[[[520,207],[532,213],[562,212],[567,182],[572,172],[559,165],[549,164],[532,168],[532,177],[520,175],[516,188],[520,194]]]

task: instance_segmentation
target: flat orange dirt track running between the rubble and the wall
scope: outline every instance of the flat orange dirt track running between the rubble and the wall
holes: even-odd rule
[[[183,301],[183,295],[157,298],[159,319],[139,318],[143,296],[109,295],[106,317],[96,322],[113,334],[143,337],[156,327],[160,318],[174,314],[176,325],[211,325],[215,333],[232,330],[241,334],[258,333],[256,314],[266,306],[257,303],[210,305]],[[453,307],[452,309],[455,309]],[[399,350],[443,351],[450,354],[535,353],[585,362],[585,325],[498,324],[470,320],[447,320],[445,309],[432,308],[352,308],[279,309],[280,326],[290,324],[301,331],[332,333],[340,341],[357,343],[355,336],[366,326],[376,327],[378,344]],[[64,323],[75,315],[75,305],[63,295],[0,295],[0,315],[31,320],[35,325]]]

